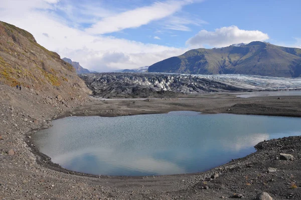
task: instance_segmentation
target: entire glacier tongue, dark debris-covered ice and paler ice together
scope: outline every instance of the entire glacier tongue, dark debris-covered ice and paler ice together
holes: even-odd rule
[[[172,73],[89,73],[79,75],[104,97],[162,96],[163,93],[301,89],[301,78],[240,74],[191,75]]]

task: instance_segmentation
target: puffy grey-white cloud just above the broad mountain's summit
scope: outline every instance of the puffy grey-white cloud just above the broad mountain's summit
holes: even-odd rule
[[[215,29],[214,32],[202,30],[187,40],[186,44],[193,48],[203,45],[225,47],[236,43],[250,43],[267,39],[269,39],[268,35],[261,31],[246,31],[239,29],[237,26],[230,26]]]

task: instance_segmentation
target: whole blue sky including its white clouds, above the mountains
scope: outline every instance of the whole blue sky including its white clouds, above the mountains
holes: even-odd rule
[[[301,47],[300,8],[297,0],[0,0],[0,21],[61,57],[110,71],[254,40]]]

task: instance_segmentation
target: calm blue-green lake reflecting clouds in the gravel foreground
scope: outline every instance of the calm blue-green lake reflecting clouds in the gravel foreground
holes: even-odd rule
[[[95,175],[194,173],[255,152],[272,138],[301,135],[301,119],[178,111],[122,117],[67,117],[34,134],[62,167]]]

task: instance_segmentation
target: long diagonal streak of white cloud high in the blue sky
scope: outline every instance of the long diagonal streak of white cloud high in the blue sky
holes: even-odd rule
[[[180,11],[183,6],[190,3],[192,3],[192,1],[170,0],[166,2],[155,2],[151,6],[137,8],[104,18],[86,31],[92,34],[105,34],[127,28],[137,28],[149,22],[166,18]]]

